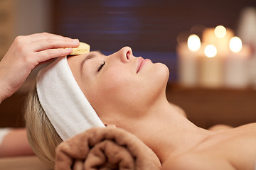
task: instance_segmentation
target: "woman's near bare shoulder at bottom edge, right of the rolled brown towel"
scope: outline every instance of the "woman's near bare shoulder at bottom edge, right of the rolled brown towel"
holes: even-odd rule
[[[179,157],[169,158],[164,162],[161,170],[215,170],[215,169],[225,169],[225,170],[235,170],[235,168],[228,164],[228,162],[220,162],[219,159],[214,159],[207,157],[203,154],[183,154]]]

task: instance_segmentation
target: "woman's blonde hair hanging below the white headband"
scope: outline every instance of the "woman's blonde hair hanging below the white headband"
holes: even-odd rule
[[[28,142],[33,152],[42,162],[53,168],[55,148],[63,140],[61,140],[45,111],[43,111],[38,100],[36,86],[28,95],[24,112]]]

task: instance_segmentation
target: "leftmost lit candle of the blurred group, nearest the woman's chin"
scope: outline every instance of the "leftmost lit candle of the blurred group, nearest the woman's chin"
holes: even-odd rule
[[[198,55],[201,40],[197,35],[190,35],[187,43],[177,47],[178,79],[182,86],[197,86],[198,84]]]

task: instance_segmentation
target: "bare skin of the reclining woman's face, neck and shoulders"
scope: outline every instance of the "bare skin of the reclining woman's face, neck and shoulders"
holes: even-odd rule
[[[130,47],[110,56],[87,55],[68,57],[68,64],[88,101],[105,125],[124,128],[153,149],[162,170],[254,169],[255,123],[198,128],[167,101],[169,71],[164,64],[148,61],[137,73],[139,57]]]

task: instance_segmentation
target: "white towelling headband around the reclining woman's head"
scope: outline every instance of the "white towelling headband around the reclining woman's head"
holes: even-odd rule
[[[38,73],[36,90],[62,140],[90,128],[105,127],[75,81],[67,57],[59,57]]]

